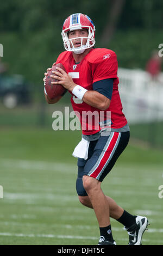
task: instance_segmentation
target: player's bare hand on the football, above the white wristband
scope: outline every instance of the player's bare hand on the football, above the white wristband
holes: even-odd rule
[[[64,86],[67,90],[70,90],[72,92],[73,88],[77,85],[73,82],[71,76],[69,76],[64,70],[60,68],[56,68],[60,72],[52,71],[54,75],[51,75],[52,78],[55,78],[59,80],[58,82],[52,82],[52,84],[61,84]]]

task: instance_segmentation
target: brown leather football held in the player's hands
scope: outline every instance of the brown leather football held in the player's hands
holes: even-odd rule
[[[55,97],[62,96],[67,91],[67,89],[64,88],[61,84],[52,84],[52,82],[58,82],[59,81],[59,80],[54,79],[54,78],[51,77],[51,75],[54,75],[52,73],[52,71],[60,72],[56,68],[61,68],[66,72],[66,69],[64,68],[64,66],[61,63],[54,64],[52,66],[52,70],[48,71],[48,74],[46,75],[46,78],[45,78],[44,86],[45,86],[45,89],[46,89],[46,93],[47,93],[47,95],[50,99],[54,99]]]

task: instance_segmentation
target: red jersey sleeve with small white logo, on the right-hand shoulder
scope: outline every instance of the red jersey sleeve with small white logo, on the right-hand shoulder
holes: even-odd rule
[[[115,52],[109,50],[100,52],[90,64],[93,83],[108,78],[117,78],[118,62]]]

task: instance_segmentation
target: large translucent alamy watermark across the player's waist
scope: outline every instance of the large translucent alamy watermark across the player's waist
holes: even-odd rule
[[[52,117],[55,118],[52,124],[54,131],[62,130],[87,130],[110,132],[111,130],[111,112],[110,111],[71,111],[65,107],[62,111],[54,111]],[[106,135],[106,133],[105,133]],[[104,136],[105,136],[104,135]]]

